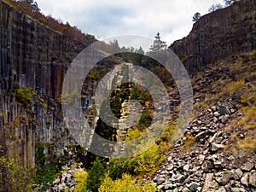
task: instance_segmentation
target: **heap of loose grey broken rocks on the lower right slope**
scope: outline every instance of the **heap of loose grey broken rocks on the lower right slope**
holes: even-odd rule
[[[185,130],[185,136],[195,138],[193,146],[186,151],[185,143],[189,138],[180,138],[166,155],[160,170],[144,182],[151,180],[166,192],[256,191],[255,155],[238,165],[236,157],[224,153],[230,137],[224,125],[239,115],[231,99],[200,113]]]

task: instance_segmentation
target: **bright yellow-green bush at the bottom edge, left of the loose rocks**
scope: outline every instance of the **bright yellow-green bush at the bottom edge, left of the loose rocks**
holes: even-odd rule
[[[124,174],[121,178],[113,180],[111,177],[105,177],[102,185],[99,188],[99,192],[160,192],[161,190],[156,189],[156,187],[151,183],[142,184],[141,181],[137,181],[136,185],[135,179],[132,179],[131,175]]]

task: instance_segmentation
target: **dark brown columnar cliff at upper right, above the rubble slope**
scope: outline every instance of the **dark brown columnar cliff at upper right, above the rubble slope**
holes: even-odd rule
[[[190,72],[256,48],[256,1],[241,0],[195,22],[189,36],[170,48]]]

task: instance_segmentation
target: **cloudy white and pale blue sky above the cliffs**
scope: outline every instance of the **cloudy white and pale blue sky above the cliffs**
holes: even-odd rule
[[[98,39],[119,35],[154,38],[167,45],[187,36],[195,12],[205,15],[222,0],[36,0],[44,15],[67,21]]]

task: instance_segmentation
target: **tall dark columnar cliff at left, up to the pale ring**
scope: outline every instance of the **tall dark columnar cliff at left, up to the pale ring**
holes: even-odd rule
[[[40,25],[0,1],[0,144],[20,165],[34,166],[35,146],[63,153],[68,131],[61,118],[64,74],[86,44]],[[18,87],[32,87],[35,101],[26,108],[15,100]],[[19,160],[16,158],[19,156]]]

